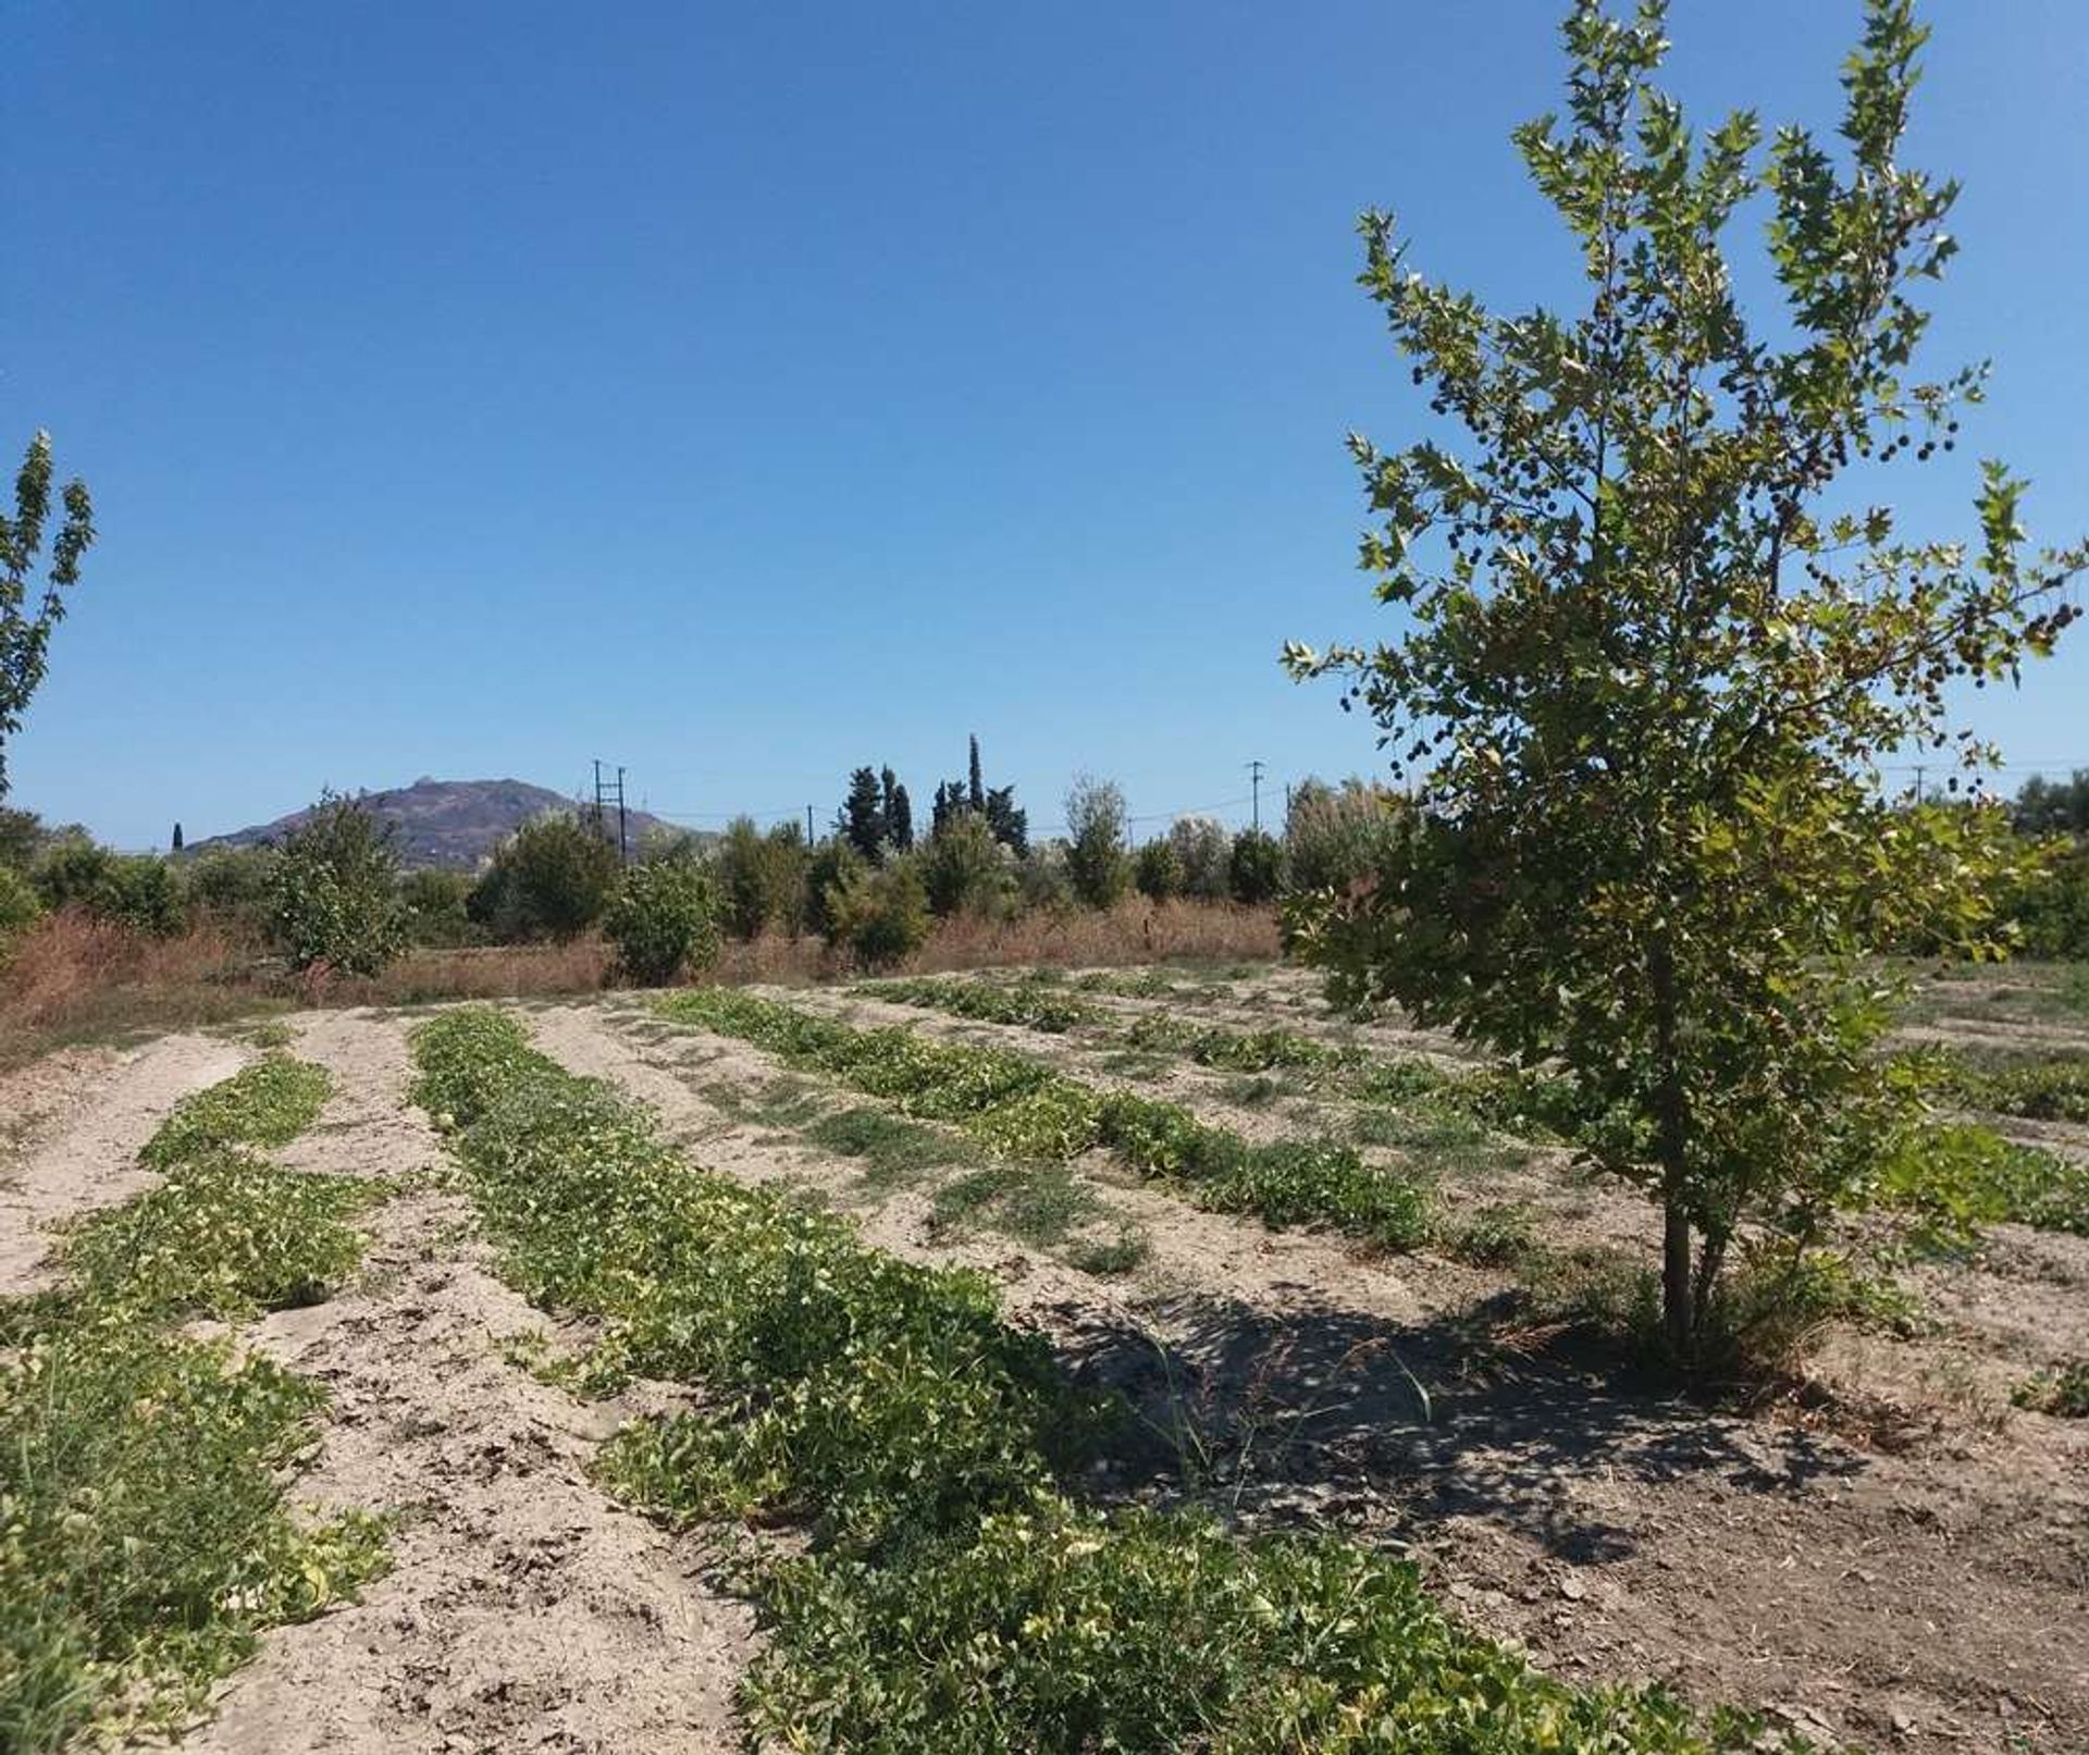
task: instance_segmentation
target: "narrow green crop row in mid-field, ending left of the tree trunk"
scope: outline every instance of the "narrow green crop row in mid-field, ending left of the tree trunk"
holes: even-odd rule
[[[1178,1103],[1101,1091],[1009,1049],[938,1043],[911,1030],[859,1030],[733,988],[691,988],[662,1015],[750,1040],[790,1066],[950,1122],[1005,1157],[1067,1162],[1107,1147],[1143,1176],[1180,1185],[1210,1212],[1266,1224],[1329,1224],[1395,1249],[1429,1235],[1429,1191],[1333,1141],[1251,1145]]]

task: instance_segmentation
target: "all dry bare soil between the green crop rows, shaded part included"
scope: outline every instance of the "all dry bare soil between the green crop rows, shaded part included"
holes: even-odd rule
[[[1109,1076],[1093,1043],[796,999]],[[1287,974],[1172,1003],[1324,1026]],[[1943,1327],[1924,1341],[1838,1337],[1824,1371],[1905,1410],[1859,1440],[1792,1408],[1711,1410],[1481,1346],[1475,1316],[1498,1274],[1203,1214],[1101,1164],[1078,1170],[1151,1251],[1126,1274],[1080,1272],[938,1224],[932,1183],[871,1189],[861,1164],[750,1112],[733,1093],[758,1097],[779,1070],[746,1045],[666,1032],[629,999],[529,1015],[539,1047],[654,1105],[710,1168],[854,1210],[873,1243],[913,1260],[996,1274],[1017,1320],[1151,1419],[1151,1440],[1099,1475],[1105,1496],[1199,1494],[1251,1523],[1406,1546],[1471,1621],[1575,1680],[1667,1680],[1874,1749],[2089,1751],[2089,1431],[1997,1394],[2031,1364],[2089,1352],[2083,1239],[2010,1231],[1978,1270],[1939,1274],[1924,1291]],[[441,1164],[407,1105],[401,1020],[290,1024],[336,1093],[286,1162],[384,1176]],[[1418,1040],[1368,1034],[1387,1051]],[[36,1226],[142,1187],[136,1151],[171,1103],[249,1053],[175,1036],[0,1080],[0,1287],[33,1283]],[[1237,1107],[1201,1072],[1136,1082],[1243,1128],[1312,1120]],[[1640,1224],[1558,1166],[1517,1174],[1552,1187],[1563,1222]],[[625,1408],[574,1402],[512,1362],[506,1343],[547,1318],[493,1277],[439,1178],[409,1176],[370,1226],[353,1287],[251,1341],[334,1398],[301,1496],[395,1515],[397,1565],[361,1605],[272,1634],[184,1747],[737,1747],[746,1607],[706,1584],[694,1544],[585,1475]]]

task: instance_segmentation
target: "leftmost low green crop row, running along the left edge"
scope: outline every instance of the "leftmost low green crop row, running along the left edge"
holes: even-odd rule
[[[372,1189],[244,1151],[324,1097],[324,1072],[267,1059],[188,1099],[144,1151],[165,1180],[63,1235],[63,1287],[0,1304],[0,1749],[171,1730],[263,1628],[384,1567],[372,1519],[288,1513],[324,1391],[169,1327],[355,1266],[343,1220]]]

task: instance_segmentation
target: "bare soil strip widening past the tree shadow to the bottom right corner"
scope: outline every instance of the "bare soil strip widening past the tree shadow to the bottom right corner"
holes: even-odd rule
[[[706,1101],[777,1076],[746,1045],[646,1040],[639,1015],[604,1007],[535,1028],[554,1057],[660,1109],[710,1168],[852,1199],[848,1162]],[[1661,1680],[1872,1747],[2089,1749],[2081,1423],[1941,1419],[1901,1431],[1899,1450],[1861,1448],[1596,1366],[1504,1358],[1475,1323],[1487,1274],[1111,1189],[1134,1193],[1153,1254],[1120,1281],[940,1237],[919,1193],[867,1208],[863,1226],[913,1260],[996,1272],[1078,1375],[1176,1433],[1105,1492],[1404,1544],[1475,1625],[1583,1682]]]

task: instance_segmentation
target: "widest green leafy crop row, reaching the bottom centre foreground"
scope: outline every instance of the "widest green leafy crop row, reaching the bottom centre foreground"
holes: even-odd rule
[[[792,1017],[744,1022],[836,1040]],[[986,1279],[898,1262],[689,1166],[499,1013],[445,1013],[414,1053],[516,1283],[704,1391],[702,1414],[627,1427],[604,1477],[668,1517],[811,1527],[800,1552],[737,1571],[767,1630],[742,1686],[750,1738],[886,1755],[1755,1747],[1740,1715],[1540,1676],[1446,1617],[1412,1563],[1082,1502],[1067,1483],[1113,1408],[999,1316]]]

